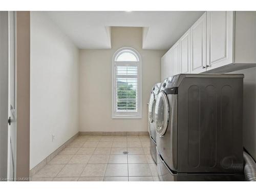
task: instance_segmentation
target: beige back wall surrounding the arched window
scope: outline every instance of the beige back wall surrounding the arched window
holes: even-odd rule
[[[165,50],[142,50],[142,28],[113,27],[112,49],[79,52],[79,131],[147,131],[147,102],[160,81],[160,60]],[[112,119],[112,57],[122,47],[136,49],[142,57],[142,119]]]

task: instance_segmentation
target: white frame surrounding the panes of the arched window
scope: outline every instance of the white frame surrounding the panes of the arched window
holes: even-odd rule
[[[135,55],[138,61],[116,61],[116,58],[123,52],[130,52]],[[137,82],[137,112],[117,112],[116,111],[116,66],[137,66],[138,82]],[[141,119],[142,118],[142,61],[138,51],[131,47],[123,47],[118,49],[112,58],[112,118],[113,119]]]

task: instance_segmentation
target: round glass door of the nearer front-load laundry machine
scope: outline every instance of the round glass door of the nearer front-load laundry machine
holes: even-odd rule
[[[164,92],[160,92],[155,108],[155,125],[156,125],[156,133],[163,137],[168,126],[169,121],[169,104],[167,96]]]

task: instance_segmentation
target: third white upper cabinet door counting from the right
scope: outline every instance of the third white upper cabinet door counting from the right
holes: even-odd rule
[[[180,38],[180,73],[190,73],[190,29]]]

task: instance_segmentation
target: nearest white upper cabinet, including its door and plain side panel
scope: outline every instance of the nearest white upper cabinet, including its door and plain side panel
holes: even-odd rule
[[[256,11],[207,11],[207,73],[256,66]]]

